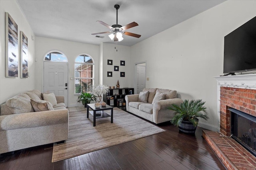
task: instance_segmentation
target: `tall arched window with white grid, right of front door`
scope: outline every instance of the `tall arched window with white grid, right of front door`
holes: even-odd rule
[[[75,60],[75,94],[90,92],[93,84],[94,61],[89,55],[79,55]]]

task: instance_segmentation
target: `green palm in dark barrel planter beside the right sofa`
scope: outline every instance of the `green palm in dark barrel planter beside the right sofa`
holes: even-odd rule
[[[184,100],[180,106],[172,104],[168,109],[175,111],[171,123],[179,127],[184,133],[194,134],[198,125],[198,117],[209,119],[206,113],[205,102],[202,100]]]

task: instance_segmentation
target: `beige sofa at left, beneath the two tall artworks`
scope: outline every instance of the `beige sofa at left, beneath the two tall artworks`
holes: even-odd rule
[[[64,96],[56,96],[52,110],[36,112],[30,99],[42,101],[41,92],[24,92],[0,106],[0,154],[68,139]]]

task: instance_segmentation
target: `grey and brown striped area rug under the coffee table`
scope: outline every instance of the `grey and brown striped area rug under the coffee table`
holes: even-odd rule
[[[110,114],[110,110],[106,113]],[[93,116],[86,118],[86,110],[69,112],[68,139],[62,144],[54,143],[52,162],[165,131],[117,107],[113,114],[113,123],[110,117],[104,117],[96,119],[93,127]]]

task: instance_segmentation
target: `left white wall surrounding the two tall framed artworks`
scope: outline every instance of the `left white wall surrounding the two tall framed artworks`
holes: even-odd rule
[[[28,72],[31,73],[28,78],[20,78],[20,65],[17,78],[5,77],[5,12],[8,12],[18,25],[18,40],[20,41],[20,31],[28,37]],[[34,33],[16,1],[0,0],[0,104],[16,94],[35,89],[35,41],[31,39],[31,35],[34,36]],[[18,46],[20,49],[20,42]]]

